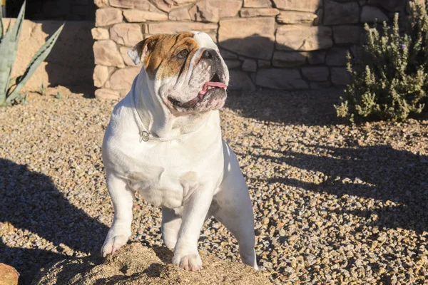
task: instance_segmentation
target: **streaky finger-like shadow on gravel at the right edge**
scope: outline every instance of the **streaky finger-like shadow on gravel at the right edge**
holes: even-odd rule
[[[327,152],[330,157],[292,151],[282,153],[280,158],[267,155],[260,157],[278,164],[285,163],[304,170],[320,171],[328,176],[325,182],[317,185],[282,177],[272,177],[268,181],[281,182],[316,192],[327,192],[339,197],[352,195],[383,202],[389,200],[398,205],[362,211],[355,209],[354,204],[350,205],[350,209],[342,209],[340,212],[360,217],[376,214],[378,219],[370,222],[372,226],[411,229],[418,234],[428,231],[427,156],[394,150],[387,145],[355,149],[319,145],[307,145],[307,147],[316,147],[316,150]],[[257,158],[255,157],[255,160]],[[336,177],[340,179],[335,180]],[[342,182],[346,178],[349,180]],[[352,183],[357,178],[365,184]]]

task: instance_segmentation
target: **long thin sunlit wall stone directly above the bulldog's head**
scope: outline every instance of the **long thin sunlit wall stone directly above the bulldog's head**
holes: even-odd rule
[[[210,31],[217,29],[217,24],[205,24],[198,22],[158,22],[148,24],[148,33],[156,35],[157,33],[176,33],[178,31]]]

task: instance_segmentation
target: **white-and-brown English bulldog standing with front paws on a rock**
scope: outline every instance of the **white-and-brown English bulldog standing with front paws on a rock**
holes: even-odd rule
[[[198,271],[198,239],[213,216],[238,240],[245,264],[258,269],[253,207],[235,154],[222,139],[219,109],[228,68],[207,33],[151,36],[130,48],[143,63],[114,108],[103,139],[113,224],[101,254],[131,236],[133,196],[162,207],[162,237],[173,264]]]

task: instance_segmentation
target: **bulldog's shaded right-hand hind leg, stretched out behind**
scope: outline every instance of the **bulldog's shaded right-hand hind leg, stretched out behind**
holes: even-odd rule
[[[258,269],[255,257],[253,205],[238,160],[223,142],[225,174],[219,191],[213,197],[211,214],[225,225],[238,240],[240,257],[245,264]]]

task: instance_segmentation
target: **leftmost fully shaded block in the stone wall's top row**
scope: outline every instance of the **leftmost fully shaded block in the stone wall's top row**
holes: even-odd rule
[[[360,7],[357,2],[337,3],[325,0],[324,24],[354,24],[360,20]]]

